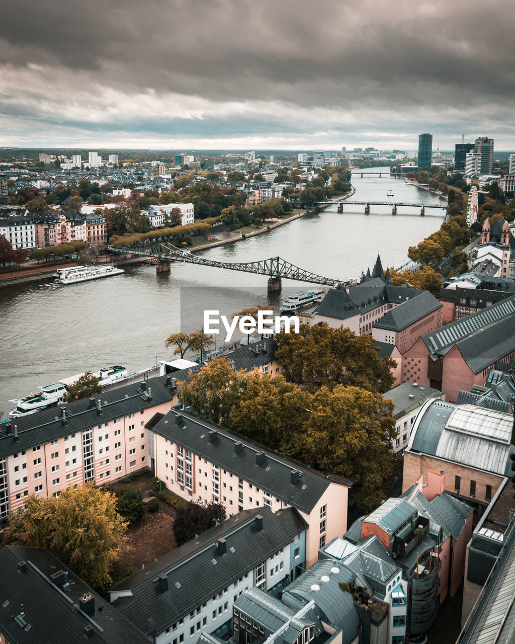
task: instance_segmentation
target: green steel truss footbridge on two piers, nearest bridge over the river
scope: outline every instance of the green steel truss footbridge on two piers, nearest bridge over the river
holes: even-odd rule
[[[154,258],[159,261],[157,272],[170,270],[171,261],[183,261],[190,264],[200,264],[201,266],[212,266],[218,269],[239,270],[245,273],[265,275],[268,276],[268,291],[270,292],[281,290],[281,278],[297,279],[323,286],[336,286],[342,281],[341,279],[326,278],[309,270],[301,269],[280,257],[247,262],[208,260],[198,255],[192,255],[191,252],[177,248],[171,243],[158,243],[149,248],[118,248],[115,246],[108,246],[107,248],[112,252]]]

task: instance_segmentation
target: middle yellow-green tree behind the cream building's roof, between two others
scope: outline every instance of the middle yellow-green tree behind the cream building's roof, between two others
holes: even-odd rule
[[[312,394],[282,375],[248,375],[245,392],[230,411],[230,428],[272,450],[290,453],[310,415]]]

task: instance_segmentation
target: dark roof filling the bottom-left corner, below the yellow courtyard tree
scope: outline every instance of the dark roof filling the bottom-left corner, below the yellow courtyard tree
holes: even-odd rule
[[[26,567],[19,573],[22,561]],[[86,627],[93,629],[91,641],[148,644],[140,630],[48,550],[6,545],[0,550],[0,569],[0,632],[11,644],[79,642],[86,640]],[[68,572],[70,582],[65,592],[50,579],[61,570]],[[80,597],[87,592],[94,598],[92,616],[79,609]]]

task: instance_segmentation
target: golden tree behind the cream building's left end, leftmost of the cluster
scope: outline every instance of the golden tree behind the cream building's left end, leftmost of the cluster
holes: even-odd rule
[[[185,408],[222,425],[230,424],[230,411],[245,392],[248,374],[234,371],[225,357],[218,357],[177,384]]]

